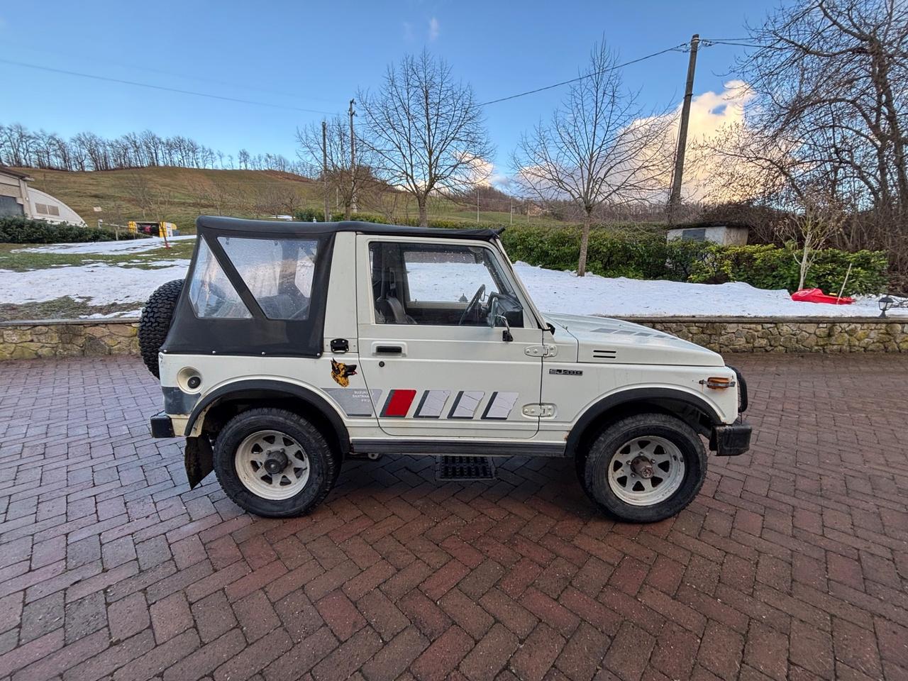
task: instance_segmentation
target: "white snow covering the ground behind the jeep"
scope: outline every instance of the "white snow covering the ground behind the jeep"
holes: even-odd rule
[[[74,245],[97,247],[111,243],[132,242]],[[136,312],[116,313],[116,316],[131,316],[137,314],[158,286],[185,277],[189,261],[161,264],[166,266],[153,270],[105,264],[25,272],[0,270],[0,303],[51,301],[72,296],[90,305],[135,303]],[[515,269],[542,311],[614,317],[875,317],[880,313],[876,298],[864,298],[853,305],[824,305],[795,302],[786,291],[765,291],[741,282],[692,284],[610,279],[595,274],[578,279],[573,272],[545,270],[525,262],[518,262]],[[468,298],[473,293],[463,292]],[[889,315],[908,318],[908,308],[890,310]]]

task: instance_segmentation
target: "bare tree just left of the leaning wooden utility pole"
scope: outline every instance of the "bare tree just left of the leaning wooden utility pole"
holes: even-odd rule
[[[671,119],[647,114],[616,64],[617,54],[596,44],[561,107],[521,136],[513,156],[516,181],[528,198],[547,206],[571,202],[580,212],[580,277],[597,207],[646,202],[666,187]]]

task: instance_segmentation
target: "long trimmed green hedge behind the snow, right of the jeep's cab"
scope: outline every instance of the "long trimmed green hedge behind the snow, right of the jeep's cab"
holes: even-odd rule
[[[502,242],[511,259],[551,270],[576,270],[580,230],[518,227],[506,230]],[[795,291],[799,252],[791,247],[721,246],[676,240],[646,232],[594,229],[587,247],[587,271],[606,277],[662,279],[700,283],[745,281],[760,289]],[[845,294],[879,293],[888,281],[885,252],[816,253],[807,273],[806,288],[837,293],[852,265]]]

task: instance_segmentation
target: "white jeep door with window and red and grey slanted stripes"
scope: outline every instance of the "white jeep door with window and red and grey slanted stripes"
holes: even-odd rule
[[[503,340],[504,326],[489,326],[496,296],[528,309],[501,252],[486,242],[360,235],[357,258],[357,271],[370,272],[358,281],[360,370],[382,431],[533,437],[538,416],[524,407],[539,402],[542,360],[526,350],[542,331],[529,314],[520,321],[513,312],[513,341]]]

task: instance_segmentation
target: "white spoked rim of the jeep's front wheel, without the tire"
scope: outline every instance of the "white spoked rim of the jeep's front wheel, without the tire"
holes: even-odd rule
[[[671,497],[684,480],[684,456],[665,438],[635,438],[608,463],[608,486],[631,506],[654,506]]]

